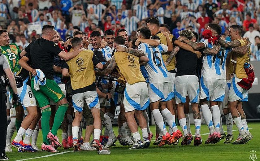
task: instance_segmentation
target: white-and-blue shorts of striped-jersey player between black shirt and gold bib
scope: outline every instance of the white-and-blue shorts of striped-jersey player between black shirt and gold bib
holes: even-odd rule
[[[200,99],[222,102],[225,96],[226,80],[215,78],[203,78],[200,80]]]

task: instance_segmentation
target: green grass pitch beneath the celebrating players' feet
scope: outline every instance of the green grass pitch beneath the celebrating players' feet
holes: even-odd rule
[[[23,152],[18,153],[17,149],[12,147],[13,152],[7,153],[7,156],[10,160],[20,160],[20,159],[30,159],[30,160],[250,160],[250,150],[255,150],[256,156],[260,159],[260,123],[249,123],[250,132],[253,134],[253,140],[249,141],[247,144],[242,145],[232,145],[232,144],[224,144],[223,140],[221,140],[217,144],[204,144],[208,135],[208,128],[206,125],[201,126],[201,134],[203,139],[203,144],[201,146],[193,146],[193,142],[189,146],[181,146],[180,142],[177,146],[163,146],[158,147],[153,145],[153,141],[151,142],[151,146],[148,149],[141,150],[128,150],[128,146],[120,146],[118,142],[116,142],[116,146],[111,148],[110,155],[100,155],[97,151],[80,151],[74,152],[73,149],[64,150],[63,148],[59,148],[59,153],[67,152],[58,155],[46,156],[56,153],[50,153],[46,151],[39,151],[37,153]],[[155,126],[151,126],[151,131],[155,133]],[[178,128],[181,130],[180,126]],[[192,133],[195,131],[194,125],[191,125]],[[224,126],[224,130],[226,126]],[[117,127],[114,127],[115,133],[117,133]],[[236,139],[238,135],[238,131],[236,125],[233,125],[234,139]],[[58,136],[61,139],[61,129],[59,129]],[[85,129],[83,131],[85,133]],[[16,135],[16,133],[15,133]],[[15,136],[14,135],[14,136]],[[84,135],[83,135],[84,136]],[[152,138],[152,140],[155,139]],[[182,139],[180,139],[181,141]],[[42,142],[41,130],[39,133],[37,146],[40,147]],[[32,159],[36,157],[42,157],[38,159]]]

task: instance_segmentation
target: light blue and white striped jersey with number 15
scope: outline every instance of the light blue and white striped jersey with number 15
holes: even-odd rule
[[[138,50],[142,50],[149,61],[141,68],[143,75],[148,77],[151,84],[171,82],[166,66],[163,62],[162,52],[167,52],[168,47],[164,44],[159,46],[150,46],[146,43],[141,43]]]

